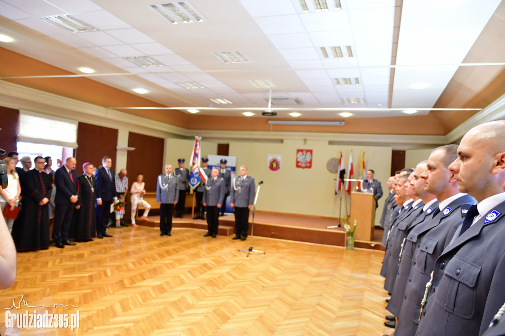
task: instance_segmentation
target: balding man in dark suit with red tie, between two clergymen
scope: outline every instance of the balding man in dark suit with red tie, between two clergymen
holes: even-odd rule
[[[58,168],[55,173],[56,207],[53,240],[58,248],[64,248],[65,245],[75,245],[68,239],[75,203],[78,200],[75,164],[75,157],[71,156],[67,158],[65,165]]]

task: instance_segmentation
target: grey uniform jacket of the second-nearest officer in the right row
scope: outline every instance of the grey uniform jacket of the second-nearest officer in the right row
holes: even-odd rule
[[[409,282],[405,287],[404,301],[401,306],[395,334],[414,334],[419,324],[419,310],[424,297],[426,283],[435,267],[437,257],[450,242],[458,226],[463,222],[466,210],[475,203],[470,195],[463,195],[445,206],[425,226],[417,226],[407,236],[418,247],[412,259]]]

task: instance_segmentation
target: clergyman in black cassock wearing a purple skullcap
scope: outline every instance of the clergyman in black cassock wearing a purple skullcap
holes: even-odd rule
[[[76,242],[89,242],[96,237],[96,180],[93,176],[93,164],[82,165],[84,174],[77,177],[79,200],[75,205],[70,237]]]

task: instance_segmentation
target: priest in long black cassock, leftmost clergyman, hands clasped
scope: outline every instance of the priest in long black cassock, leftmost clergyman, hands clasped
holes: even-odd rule
[[[25,198],[20,220],[12,230],[14,243],[19,252],[49,248],[49,210],[51,178],[44,170],[45,159],[35,157],[35,169],[24,176]]]

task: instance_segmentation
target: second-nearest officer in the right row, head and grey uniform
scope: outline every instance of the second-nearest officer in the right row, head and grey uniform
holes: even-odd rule
[[[430,279],[435,260],[463,221],[466,210],[475,201],[470,195],[458,193],[458,183],[448,169],[449,164],[458,157],[457,147],[446,145],[435,148],[428,158],[426,171],[421,174],[425,181],[425,191],[435,195],[440,203],[426,225],[416,226],[407,235],[407,240],[418,247],[413,255],[398,316],[395,330],[397,336],[416,334],[419,321],[414,316],[419,316],[426,283]]]

